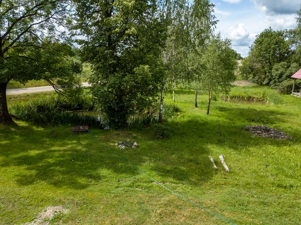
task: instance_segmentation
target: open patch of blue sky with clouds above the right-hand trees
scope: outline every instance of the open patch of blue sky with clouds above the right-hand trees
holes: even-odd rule
[[[211,0],[219,20],[216,32],[232,40],[232,48],[245,57],[264,29],[293,29],[301,0]]]

